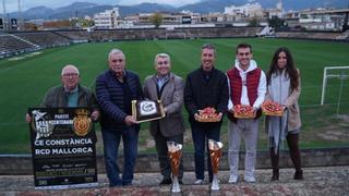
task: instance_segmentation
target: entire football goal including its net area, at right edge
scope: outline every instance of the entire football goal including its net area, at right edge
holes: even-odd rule
[[[349,66],[325,66],[321,105],[349,101]]]

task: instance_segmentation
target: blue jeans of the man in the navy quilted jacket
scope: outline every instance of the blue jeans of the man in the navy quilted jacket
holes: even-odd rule
[[[101,134],[109,186],[131,185],[137,156],[139,131],[129,126],[123,130],[101,130]],[[121,137],[124,158],[122,177],[119,176],[120,169],[117,163]]]

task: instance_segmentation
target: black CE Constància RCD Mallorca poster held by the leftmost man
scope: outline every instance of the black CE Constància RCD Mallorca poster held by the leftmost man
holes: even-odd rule
[[[29,108],[35,189],[97,186],[96,133],[87,108]]]

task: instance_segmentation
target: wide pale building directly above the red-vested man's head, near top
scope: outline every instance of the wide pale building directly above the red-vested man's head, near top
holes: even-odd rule
[[[225,14],[227,15],[243,15],[245,17],[250,16],[263,16],[263,9],[260,3],[248,3],[241,7],[226,7]]]

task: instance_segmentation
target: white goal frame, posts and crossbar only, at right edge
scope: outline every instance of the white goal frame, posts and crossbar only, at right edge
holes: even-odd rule
[[[323,106],[324,102],[325,102],[326,86],[327,86],[328,78],[338,78],[338,79],[340,79],[338,103],[337,103],[337,106],[338,106],[337,107],[337,113],[338,113],[340,99],[341,99],[344,81],[349,79],[349,66],[325,66],[324,68],[323,88],[322,88],[322,95],[321,95],[321,106]]]

